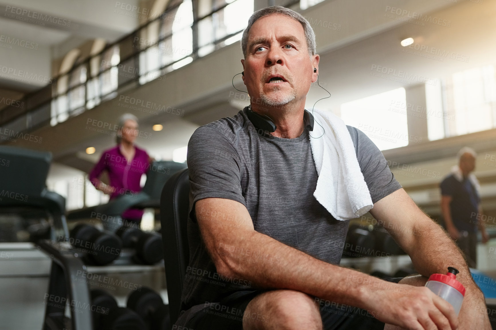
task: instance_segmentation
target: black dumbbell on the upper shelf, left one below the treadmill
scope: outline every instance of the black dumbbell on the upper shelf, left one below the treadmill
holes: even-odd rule
[[[117,235],[86,223],[77,224],[70,231],[69,241],[83,251],[86,263],[99,266],[116,260],[122,249],[122,241]]]

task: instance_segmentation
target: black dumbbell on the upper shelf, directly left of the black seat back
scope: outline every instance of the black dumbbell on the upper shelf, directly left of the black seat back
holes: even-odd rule
[[[136,251],[135,262],[153,265],[164,259],[162,236],[159,234],[125,226],[119,228],[116,234],[121,237],[124,248]]]

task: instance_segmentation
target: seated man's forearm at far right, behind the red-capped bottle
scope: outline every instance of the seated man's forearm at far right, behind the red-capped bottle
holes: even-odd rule
[[[441,226],[426,216],[417,228],[419,234],[414,238],[416,248],[409,253],[415,270],[429,277],[434,273],[446,274],[448,267],[454,267],[460,272],[456,279],[467,291],[480,292],[460,250]]]

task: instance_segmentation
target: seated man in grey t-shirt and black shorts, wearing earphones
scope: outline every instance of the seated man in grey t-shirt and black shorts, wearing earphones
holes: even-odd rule
[[[313,196],[318,136],[304,109],[318,74],[313,30],[272,6],[252,14],[241,43],[250,107],[199,127],[188,143],[190,260],[176,329],[491,329],[460,251],[351,126],[370,212],[420,274],[385,281],[338,266],[349,220]],[[423,287],[448,266],[467,289],[458,318]]]

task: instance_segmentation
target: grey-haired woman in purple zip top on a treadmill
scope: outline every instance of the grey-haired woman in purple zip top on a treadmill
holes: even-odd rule
[[[124,113],[119,118],[117,146],[105,150],[89,174],[91,183],[98,190],[109,194],[110,200],[139,192],[141,175],[146,173],[153,162],[144,149],[134,144],[137,135],[138,118],[131,113]],[[108,172],[110,185],[98,179],[104,170]],[[129,208],[121,216],[124,225],[139,227],[143,210]]]

